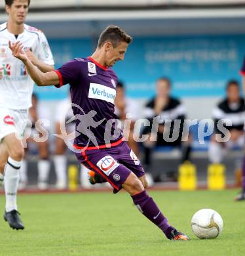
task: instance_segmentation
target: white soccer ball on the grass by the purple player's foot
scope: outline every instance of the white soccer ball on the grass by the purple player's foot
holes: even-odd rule
[[[200,239],[217,238],[223,229],[223,219],[212,209],[201,209],[191,219],[193,233]]]

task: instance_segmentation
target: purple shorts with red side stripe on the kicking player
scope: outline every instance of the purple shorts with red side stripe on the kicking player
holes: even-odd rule
[[[137,177],[145,175],[137,156],[124,141],[111,148],[81,150],[75,154],[79,163],[104,177],[115,190],[121,190],[131,172]]]

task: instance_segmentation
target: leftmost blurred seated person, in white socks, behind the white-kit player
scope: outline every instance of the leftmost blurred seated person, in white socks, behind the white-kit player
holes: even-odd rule
[[[39,119],[49,119],[49,112],[47,108],[39,108],[37,95],[33,94],[31,97],[32,106],[29,108],[29,126],[26,129],[26,138],[27,152],[38,152],[38,160],[37,160],[37,187],[41,190],[45,190],[48,188],[48,174],[50,171],[50,160],[49,160],[49,144],[48,140],[45,141],[37,141],[34,139],[33,135],[39,135],[43,137],[43,123],[37,122]],[[22,166],[20,168],[20,184],[19,189],[26,188],[26,184],[28,184],[28,164],[26,158],[22,161]]]

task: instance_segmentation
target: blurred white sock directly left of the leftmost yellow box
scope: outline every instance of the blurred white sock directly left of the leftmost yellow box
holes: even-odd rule
[[[66,169],[67,169],[66,156],[55,155],[54,156],[54,169],[56,172],[57,183],[66,184]]]

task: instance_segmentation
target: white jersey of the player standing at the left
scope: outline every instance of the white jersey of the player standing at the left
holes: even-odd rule
[[[34,82],[24,64],[12,56],[9,41],[20,41],[24,50],[29,48],[45,64],[54,65],[53,56],[41,30],[24,24],[24,32],[16,39],[7,30],[7,22],[0,25],[0,68],[3,68],[3,78],[0,79],[0,108],[28,109],[31,106]]]

